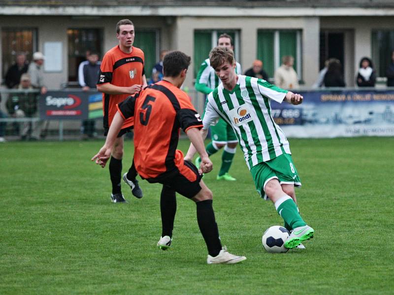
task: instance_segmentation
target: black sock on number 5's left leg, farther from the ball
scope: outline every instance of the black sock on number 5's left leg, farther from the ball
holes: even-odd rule
[[[162,236],[172,237],[176,213],[175,191],[163,185],[160,195],[160,212],[162,214]]]

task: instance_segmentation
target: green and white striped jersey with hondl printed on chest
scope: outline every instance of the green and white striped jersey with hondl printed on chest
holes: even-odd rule
[[[283,101],[288,91],[268,82],[238,75],[234,89],[220,84],[207,97],[204,129],[223,118],[234,129],[249,169],[283,153],[291,154],[289,142],[271,116],[270,100]]]

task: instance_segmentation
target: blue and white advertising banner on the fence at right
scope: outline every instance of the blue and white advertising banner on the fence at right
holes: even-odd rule
[[[271,101],[288,137],[394,136],[394,90],[300,91],[297,106]]]

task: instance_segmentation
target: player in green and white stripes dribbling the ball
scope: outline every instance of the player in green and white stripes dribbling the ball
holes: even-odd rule
[[[227,48],[214,48],[209,59],[222,84],[208,95],[201,136],[205,139],[209,125],[219,118],[231,124],[257,190],[274,203],[285,227],[292,231],[285,247],[294,248],[313,237],[314,230],[299,215],[294,186],[301,182],[289,142],[271,116],[270,100],[297,105],[303,97],[261,79],[237,76],[233,52]],[[185,160],[195,152],[191,146]]]

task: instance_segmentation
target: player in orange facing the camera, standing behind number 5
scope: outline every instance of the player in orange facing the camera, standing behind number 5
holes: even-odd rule
[[[116,105],[130,95],[147,86],[144,71],[144,53],[136,48],[134,43],[134,25],[130,20],[121,20],[116,25],[116,37],[119,45],[110,49],[101,61],[97,89],[102,92],[102,107],[104,112],[104,135],[108,133],[112,120],[116,114]],[[112,157],[109,163],[109,175],[112,183],[111,201],[114,203],[126,202],[121,190],[123,135],[130,132],[133,118],[126,120],[115,140]],[[137,172],[134,163],[123,180],[131,187],[132,194],[142,198],[142,190],[135,179]]]

